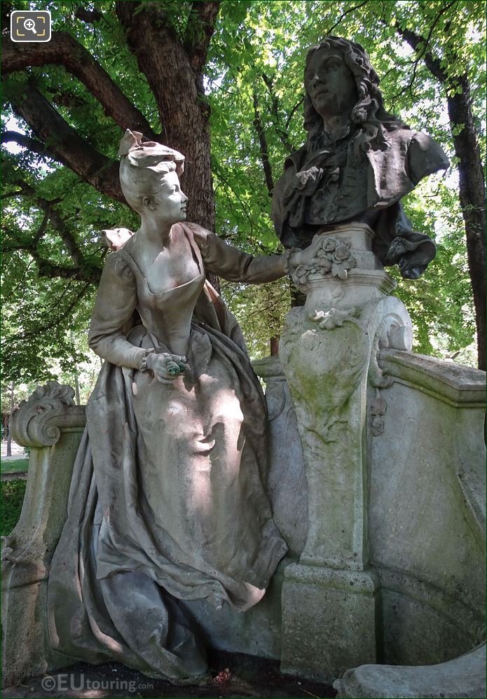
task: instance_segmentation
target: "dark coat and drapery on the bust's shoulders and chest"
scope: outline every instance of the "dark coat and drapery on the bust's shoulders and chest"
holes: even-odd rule
[[[435,248],[426,235],[411,230],[400,200],[423,177],[446,169],[448,158],[427,134],[405,125],[387,131],[386,148],[372,147],[357,158],[357,135],[343,139],[341,148],[331,144],[331,150],[324,146],[312,151],[307,142],[289,155],[273,194],[277,236],[286,247],[307,247],[321,229],[366,222],[376,233],[373,249],[380,261],[392,265],[406,258],[404,276],[418,276],[434,258]],[[400,241],[391,248],[396,238]],[[418,272],[409,275],[408,270]]]

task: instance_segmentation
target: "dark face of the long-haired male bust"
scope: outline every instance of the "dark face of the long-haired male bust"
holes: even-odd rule
[[[304,79],[311,102],[320,116],[350,115],[358,102],[357,85],[340,51],[320,48],[313,53]]]

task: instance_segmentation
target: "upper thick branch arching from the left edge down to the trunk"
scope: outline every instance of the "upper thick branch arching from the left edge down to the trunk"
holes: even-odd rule
[[[76,76],[102,105],[104,113],[125,129],[156,138],[144,115],[123,94],[92,55],[67,32],[54,32],[46,43],[4,41],[1,68],[4,75],[28,67],[56,64]]]

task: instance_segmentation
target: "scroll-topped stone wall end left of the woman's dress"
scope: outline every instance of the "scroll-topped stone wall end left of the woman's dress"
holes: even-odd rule
[[[85,424],[74,390],[50,381],[13,414],[14,440],[30,447],[29,475],[17,526],[2,542],[3,683],[70,665],[51,651],[46,600],[50,560],[67,517],[71,473]]]

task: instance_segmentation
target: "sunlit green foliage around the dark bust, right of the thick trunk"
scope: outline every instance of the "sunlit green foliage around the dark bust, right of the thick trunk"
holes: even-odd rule
[[[404,202],[415,230],[437,242],[436,260],[414,282],[390,270],[398,281],[397,296],[413,319],[414,350],[440,357],[456,354],[457,361],[475,366],[472,289],[446,93],[423,61],[424,47],[415,54],[399,36],[398,26],[425,34],[428,48],[441,57],[452,76],[467,71],[485,158],[485,16],[481,4],[255,1],[239,27],[222,9],[207,65],[217,232],[250,251],[276,250],[254,103],[259,104],[276,181],[289,152],[306,140],[300,105],[306,50],[330,33],[359,41],[383,76],[386,108],[398,113],[413,130],[424,130],[437,139],[452,162],[446,176],[437,174],[423,181]],[[447,89],[452,90],[452,85]],[[253,287],[229,293],[225,285],[224,293],[251,338],[252,350],[259,345],[259,340],[254,345],[254,338],[259,337],[260,328],[249,326],[249,319],[259,317],[265,328],[268,311],[274,314],[275,306],[264,302],[259,306],[261,312],[254,312],[259,295]],[[277,307],[282,326],[287,307],[285,303]]]

